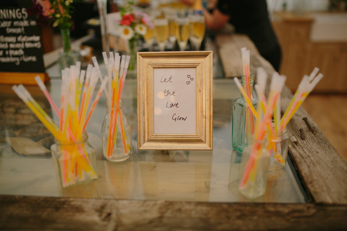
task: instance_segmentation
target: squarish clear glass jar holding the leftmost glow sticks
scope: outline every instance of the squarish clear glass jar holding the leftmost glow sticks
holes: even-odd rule
[[[56,141],[51,146],[54,168],[63,188],[82,184],[98,178],[95,150],[83,133],[76,141]]]

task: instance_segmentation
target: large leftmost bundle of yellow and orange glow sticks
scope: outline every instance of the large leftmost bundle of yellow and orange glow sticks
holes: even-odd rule
[[[100,71],[91,64],[88,65],[86,71],[81,71],[81,62],[76,62],[76,65],[65,68],[61,71],[61,75],[60,110],[52,100],[40,77],[35,77],[37,84],[57,114],[59,125],[54,124],[53,120],[44,112],[23,85],[13,86],[12,89],[61,144],[58,146],[59,150],[57,150],[62,153],[58,160],[62,168],[59,172],[62,186],[67,187],[84,181],[86,175],[90,179],[98,178],[82,140],[85,127],[108,82],[108,77],[103,79],[99,76]],[[102,80],[101,85],[91,105],[93,92],[100,77]],[[91,108],[88,110],[90,105]]]

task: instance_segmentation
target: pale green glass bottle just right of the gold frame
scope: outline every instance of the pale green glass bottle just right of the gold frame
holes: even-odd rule
[[[245,83],[245,77],[242,75],[241,83],[243,88],[248,87],[251,90],[252,104],[256,108],[258,100],[253,97],[254,75],[249,77],[249,83]],[[246,91],[247,92],[247,91]],[[247,147],[249,137],[254,134],[255,117],[248,108],[245,98],[241,95],[232,104],[232,148],[242,152]]]

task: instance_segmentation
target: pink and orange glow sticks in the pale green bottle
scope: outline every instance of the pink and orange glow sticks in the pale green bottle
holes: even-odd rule
[[[241,48],[241,55],[242,55],[242,63],[243,63],[243,75],[244,75],[244,90],[246,92],[247,97],[252,100],[252,89],[251,89],[251,73],[249,71],[249,51],[246,47]],[[253,105],[252,105],[253,106]],[[251,113],[251,109],[247,107],[246,109],[246,125],[250,123],[251,130],[248,129],[248,126],[245,126],[245,138],[244,140],[247,140],[247,137],[251,137],[251,135],[254,134],[254,118],[253,114]],[[248,121],[249,120],[249,121]],[[249,139],[249,138],[248,138]]]

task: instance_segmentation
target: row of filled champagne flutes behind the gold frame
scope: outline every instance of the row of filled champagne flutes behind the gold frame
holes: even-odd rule
[[[186,49],[188,39],[194,49],[198,51],[205,35],[205,18],[202,15],[155,18],[153,25],[153,29],[147,27],[147,33],[143,36],[150,50],[152,50],[155,37],[160,51],[165,50],[168,40],[171,44],[175,44],[176,39],[180,51]]]

